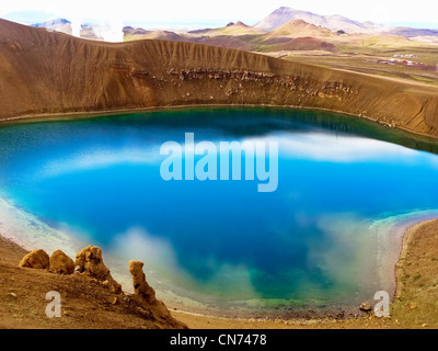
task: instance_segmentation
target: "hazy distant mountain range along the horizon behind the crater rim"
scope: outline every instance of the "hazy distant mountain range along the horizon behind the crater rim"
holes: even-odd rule
[[[45,27],[72,34],[71,23],[65,19],[36,23],[32,26]],[[89,39],[104,39],[104,31],[99,25],[82,24],[80,36]],[[120,33],[122,34],[122,33]],[[125,26],[123,38],[168,39],[197,44],[239,48],[250,52],[280,50],[320,50],[337,52],[343,37],[381,36],[387,41],[397,36],[399,42],[407,43],[411,38],[418,42],[437,43],[438,31],[412,27],[388,27],[373,22],[357,22],[342,15],[320,15],[308,11],[281,7],[254,26],[242,22],[230,22],[223,27],[199,29],[189,32],[154,31],[150,29]]]

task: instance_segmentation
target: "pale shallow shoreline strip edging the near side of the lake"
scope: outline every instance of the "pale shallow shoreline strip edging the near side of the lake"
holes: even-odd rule
[[[35,242],[35,240],[33,240],[35,239],[36,235],[47,236],[46,241],[50,242],[50,247],[48,248],[47,246],[45,246],[44,249],[45,250],[48,249],[48,251],[60,248],[65,250],[66,253],[74,257],[74,252],[81,249],[79,240],[78,242],[76,242],[76,245],[72,245],[73,238],[71,238],[70,235],[66,235],[61,230],[49,227],[48,225],[36,218],[34,215],[27,214],[26,212],[20,208],[15,208],[12,204],[10,204],[7,200],[3,199],[0,199],[0,214],[2,215],[1,217],[3,218],[3,222],[0,223],[0,236],[7,240],[16,244],[18,246],[24,248],[25,250],[32,250],[41,247],[41,245],[38,245],[37,242]],[[14,215],[16,214],[19,218],[14,220]],[[392,276],[391,286],[394,287],[394,290],[390,294],[392,303],[399,296],[400,282],[397,280],[396,268],[401,259],[405,256],[406,246],[408,246],[406,241],[407,240],[406,235],[411,233],[411,228],[420,226],[423,223],[428,223],[430,220],[434,220],[431,218],[438,218],[438,214],[436,212],[426,214],[422,212],[422,214],[413,213],[411,214],[411,217],[414,218],[410,218],[408,216],[402,218],[399,218],[399,216],[395,216],[394,218],[389,217],[389,219],[392,220],[390,222],[390,225],[394,226],[394,228],[390,228],[388,231],[388,228],[383,227],[383,230],[387,229],[383,237],[383,239],[385,239],[385,248],[387,250],[391,251],[383,252],[383,257],[381,257],[380,259],[378,258],[377,262],[378,264],[383,264],[383,268],[380,270],[380,273],[382,275],[390,274],[385,276]],[[387,218],[383,220],[389,220],[389,219]],[[11,223],[8,223],[8,220]],[[22,236],[19,235],[19,233],[25,233],[26,229],[30,228],[30,224],[32,226],[32,229],[36,230],[33,233],[34,238],[32,238],[32,235],[23,238]],[[15,231],[13,230],[14,228]],[[376,238],[379,239],[379,235],[377,235]],[[82,246],[84,245],[85,244],[82,242]],[[394,246],[396,248],[394,248]],[[390,256],[390,253],[392,253],[392,256]],[[105,261],[107,263],[115,263],[117,260],[113,260],[111,257],[110,258],[107,257]],[[116,281],[120,282],[123,285],[126,285],[124,283],[126,283],[128,279],[126,280],[124,279],[124,276],[119,272],[119,269],[120,268],[117,267],[114,271],[112,271],[113,275],[116,279]],[[127,283],[127,286],[129,286],[129,283]],[[128,293],[128,291],[126,290],[125,292]],[[158,294],[160,295],[159,292]],[[285,309],[276,314],[274,309],[270,310],[260,309],[253,312],[227,310],[227,313],[223,313],[223,310],[220,310],[220,308],[204,309],[203,307],[198,308],[191,306],[187,307],[184,305],[180,305],[177,303],[172,303],[171,301],[169,301],[165,304],[172,312],[172,314],[184,316],[183,318],[189,318],[189,319],[195,318],[205,321],[208,321],[210,319],[215,320],[220,319],[220,320],[240,320],[242,322],[243,321],[291,322],[300,320],[326,320],[326,319],[348,320],[366,316],[366,314],[359,310],[358,308],[359,306],[333,305],[328,306],[327,308],[318,308],[309,306],[309,307],[296,308],[293,310]]]

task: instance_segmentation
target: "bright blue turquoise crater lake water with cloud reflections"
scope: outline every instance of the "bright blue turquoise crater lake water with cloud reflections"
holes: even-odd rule
[[[195,143],[278,141],[277,190],[260,193],[257,180],[164,181],[160,147],[184,144],[187,132]],[[391,288],[382,252],[392,234],[376,224],[438,208],[436,150],[427,139],[311,111],[41,122],[0,128],[0,196],[102,247],[120,274],[127,260],[145,261],[170,304],[349,306]]]

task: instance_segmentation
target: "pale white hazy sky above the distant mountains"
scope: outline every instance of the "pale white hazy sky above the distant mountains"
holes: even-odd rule
[[[437,0],[12,0],[3,1],[0,16],[38,22],[49,13],[69,20],[192,27],[240,20],[253,25],[281,5],[319,14],[342,14],[358,21],[438,29]],[[23,11],[26,13],[16,13]]]

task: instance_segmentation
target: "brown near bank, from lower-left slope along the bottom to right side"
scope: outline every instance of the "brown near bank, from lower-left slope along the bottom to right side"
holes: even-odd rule
[[[19,268],[24,249],[0,236],[0,328],[200,328],[200,329],[382,329],[438,328],[438,219],[411,227],[396,267],[397,292],[390,318],[233,319],[159,310],[145,317],[131,295],[115,295],[82,274],[59,275]],[[45,315],[46,293],[61,294],[61,318]],[[12,293],[12,294],[11,294]],[[114,304],[114,298],[117,303]]]

